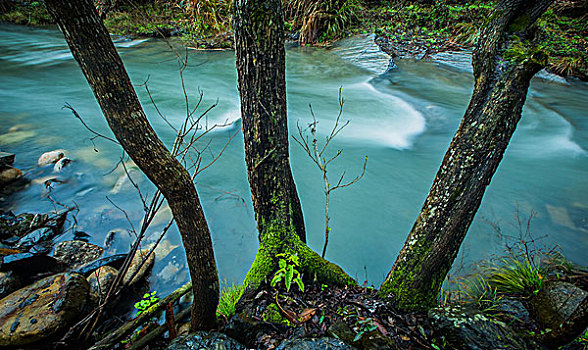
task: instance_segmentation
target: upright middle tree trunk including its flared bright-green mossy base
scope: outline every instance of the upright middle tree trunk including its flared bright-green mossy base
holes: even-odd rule
[[[318,275],[327,283],[354,283],[305,244],[288,153],[281,0],[236,0],[234,9],[245,161],[260,240],[245,285],[255,289],[275,272],[278,253],[298,254],[307,276]]]

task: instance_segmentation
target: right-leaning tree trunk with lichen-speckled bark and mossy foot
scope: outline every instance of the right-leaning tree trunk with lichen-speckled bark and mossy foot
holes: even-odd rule
[[[547,64],[533,23],[552,0],[503,0],[474,48],[470,104],[425,204],[381,286],[401,307],[435,305],[441,285],[521,118],[529,82]]]

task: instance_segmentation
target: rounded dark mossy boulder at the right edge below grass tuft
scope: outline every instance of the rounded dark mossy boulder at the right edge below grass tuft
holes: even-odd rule
[[[544,328],[556,329],[570,317],[588,292],[567,282],[546,283],[530,303]]]

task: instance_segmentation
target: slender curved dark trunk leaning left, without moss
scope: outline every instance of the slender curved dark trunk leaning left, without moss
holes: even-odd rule
[[[216,325],[218,275],[212,240],[190,175],[149,124],[104,24],[90,0],[47,0],[117,140],[157,186],[182,235],[192,277],[193,330]]]

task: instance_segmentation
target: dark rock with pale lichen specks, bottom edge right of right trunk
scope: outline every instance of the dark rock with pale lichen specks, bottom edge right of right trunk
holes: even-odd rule
[[[506,324],[477,310],[455,304],[429,310],[435,337],[444,337],[448,349],[531,349]]]

